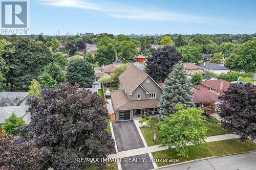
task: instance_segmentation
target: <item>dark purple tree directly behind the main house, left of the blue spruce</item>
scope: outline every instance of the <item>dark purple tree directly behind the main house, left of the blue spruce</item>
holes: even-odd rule
[[[155,50],[147,58],[146,72],[155,81],[163,82],[164,79],[172,72],[174,65],[181,60],[181,54],[173,46],[164,46]]]

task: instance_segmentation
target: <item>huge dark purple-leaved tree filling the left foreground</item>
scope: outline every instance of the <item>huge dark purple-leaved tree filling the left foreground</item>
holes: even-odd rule
[[[78,87],[60,84],[58,90],[42,89],[42,99],[29,99],[31,122],[19,129],[14,142],[5,141],[10,144],[4,152],[0,150],[0,166],[75,170],[90,166],[90,162],[77,163],[76,158],[106,158],[116,153],[114,139],[106,131],[105,101]],[[105,168],[104,162],[96,165]]]

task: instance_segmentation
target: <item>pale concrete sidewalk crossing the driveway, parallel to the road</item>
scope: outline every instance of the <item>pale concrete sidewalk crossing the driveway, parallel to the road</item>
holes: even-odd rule
[[[236,139],[236,138],[239,138],[239,136],[233,135],[233,134],[226,134],[226,135],[210,136],[210,137],[207,137],[205,141],[213,142],[213,141]],[[189,143],[187,145],[193,145],[193,143]],[[175,146],[173,146],[172,148],[175,148]],[[110,158],[125,158],[125,157],[142,155],[142,154],[147,154],[147,153],[152,153],[152,152],[157,152],[157,151],[163,151],[163,150],[167,150],[167,149],[168,149],[168,147],[160,147],[160,145],[155,145],[152,147],[144,147],[144,148],[138,148],[138,149],[134,149],[134,150],[118,152],[117,154],[111,154],[108,157],[110,157]]]

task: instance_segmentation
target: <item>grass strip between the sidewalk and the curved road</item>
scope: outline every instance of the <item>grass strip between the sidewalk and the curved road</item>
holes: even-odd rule
[[[236,154],[247,151],[256,150],[256,144],[250,140],[245,143],[240,143],[240,139],[228,139],[215,142],[200,144],[197,147],[188,146],[188,157],[179,157],[175,149],[153,152],[153,157],[156,158],[179,158],[180,162],[206,158],[211,156],[221,156],[228,154]],[[157,163],[157,166],[172,164],[169,162]]]

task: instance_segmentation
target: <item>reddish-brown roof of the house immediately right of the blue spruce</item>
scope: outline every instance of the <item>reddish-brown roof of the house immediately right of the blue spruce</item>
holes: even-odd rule
[[[193,89],[193,102],[201,103],[201,102],[216,102],[220,101],[218,99],[219,95],[211,92],[209,90],[194,90]]]

